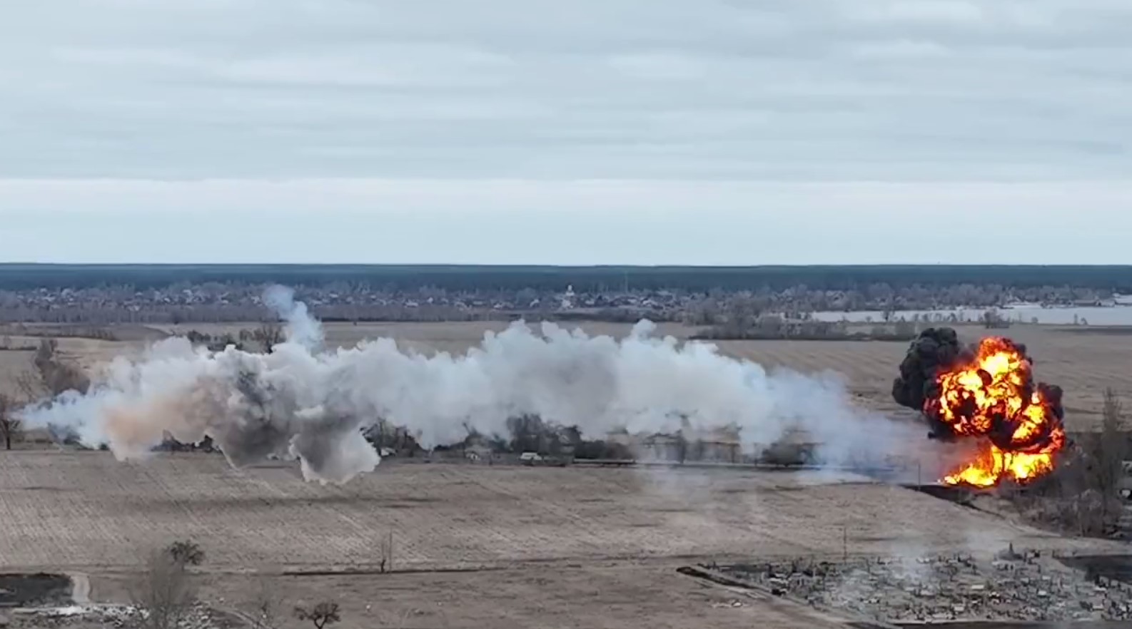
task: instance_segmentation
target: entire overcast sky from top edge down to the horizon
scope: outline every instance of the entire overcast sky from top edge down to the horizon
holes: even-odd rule
[[[1132,262],[1129,0],[0,8],[0,260]]]

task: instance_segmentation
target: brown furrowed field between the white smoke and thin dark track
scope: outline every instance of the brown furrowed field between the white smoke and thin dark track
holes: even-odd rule
[[[839,554],[1044,543],[1036,531],[925,494],[755,471],[387,464],[345,486],[293,465],[228,468],[215,455],[120,464],[106,453],[0,456],[2,568],[128,567],[137,549],[191,538],[209,569],[377,571],[672,557]],[[1023,543],[1024,545],[1024,543]]]

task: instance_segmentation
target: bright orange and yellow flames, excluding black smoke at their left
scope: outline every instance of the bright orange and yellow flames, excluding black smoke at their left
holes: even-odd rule
[[[1030,482],[1054,469],[1065,445],[1061,419],[1043,387],[1034,387],[1030,360],[1006,338],[985,338],[975,356],[936,377],[938,395],[925,412],[953,434],[983,437],[979,456],[943,477],[978,488],[1010,479]]]

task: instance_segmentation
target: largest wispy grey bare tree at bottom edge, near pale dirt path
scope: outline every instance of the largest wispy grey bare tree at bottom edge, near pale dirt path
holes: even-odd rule
[[[130,598],[144,611],[142,626],[146,629],[173,629],[196,601],[185,563],[169,549],[149,553]]]

